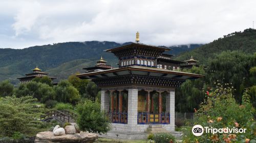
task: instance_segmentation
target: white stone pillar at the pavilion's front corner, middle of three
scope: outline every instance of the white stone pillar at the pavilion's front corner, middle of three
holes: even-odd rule
[[[138,89],[128,89],[128,123],[130,131],[137,127]]]

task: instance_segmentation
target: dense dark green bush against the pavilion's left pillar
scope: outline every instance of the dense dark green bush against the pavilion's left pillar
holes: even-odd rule
[[[78,112],[77,125],[81,131],[106,133],[111,130],[109,118],[101,111],[100,103],[85,100],[76,106]]]

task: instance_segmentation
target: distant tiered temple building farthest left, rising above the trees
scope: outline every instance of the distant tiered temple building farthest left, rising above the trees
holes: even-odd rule
[[[28,82],[32,81],[34,78],[36,78],[36,77],[48,77],[49,73],[42,72],[41,69],[39,69],[37,66],[36,66],[36,68],[34,68],[32,70],[33,70],[33,73],[26,74],[26,77],[17,78],[20,81],[20,83],[28,83]],[[57,79],[57,78],[53,78],[53,77],[49,77],[49,78],[52,81],[54,79]]]

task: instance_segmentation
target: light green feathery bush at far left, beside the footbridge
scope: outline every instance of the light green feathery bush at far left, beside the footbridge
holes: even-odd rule
[[[30,133],[39,124],[43,111],[31,96],[0,98],[0,135],[11,137],[15,132]]]

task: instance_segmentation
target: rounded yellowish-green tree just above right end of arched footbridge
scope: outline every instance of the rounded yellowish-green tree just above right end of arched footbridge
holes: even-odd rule
[[[54,91],[58,102],[75,104],[80,99],[78,90],[68,80],[60,81]]]

